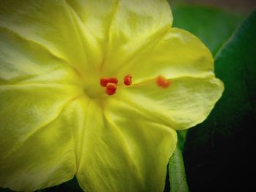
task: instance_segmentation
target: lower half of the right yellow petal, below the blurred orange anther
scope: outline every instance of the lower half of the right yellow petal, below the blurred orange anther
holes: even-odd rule
[[[153,81],[119,90],[116,99],[127,102],[158,123],[181,130],[205,120],[223,89],[223,83],[214,77],[180,77],[171,79],[167,89]]]

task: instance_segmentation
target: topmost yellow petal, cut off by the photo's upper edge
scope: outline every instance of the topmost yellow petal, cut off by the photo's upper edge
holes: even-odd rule
[[[110,75],[172,23],[165,0],[69,0],[80,20],[102,47],[99,70]]]

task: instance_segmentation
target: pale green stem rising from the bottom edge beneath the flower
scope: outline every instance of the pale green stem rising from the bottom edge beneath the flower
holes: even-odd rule
[[[168,172],[171,192],[189,191],[183,157],[179,145],[177,145],[176,150],[170,158]]]

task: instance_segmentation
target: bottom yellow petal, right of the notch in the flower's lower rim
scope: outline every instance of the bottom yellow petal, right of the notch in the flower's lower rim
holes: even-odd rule
[[[176,131],[115,101],[103,107],[105,112],[95,101],[73,103],[83,115],[77,128],[83,145],[78,183],[85,191],[163,191]]]

